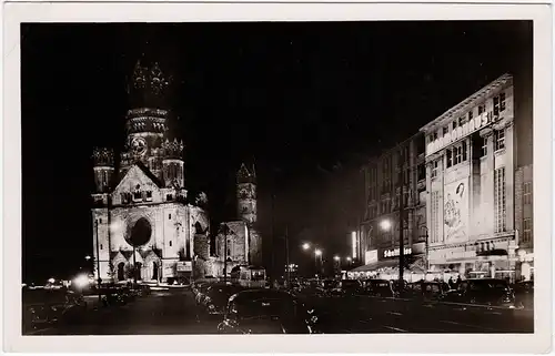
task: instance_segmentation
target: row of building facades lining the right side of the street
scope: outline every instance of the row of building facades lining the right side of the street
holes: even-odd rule
[[[363,167],[352,274],[398,266],[402,215],[408,277],[533,278],[532,102],[518,83],[500,77]]]

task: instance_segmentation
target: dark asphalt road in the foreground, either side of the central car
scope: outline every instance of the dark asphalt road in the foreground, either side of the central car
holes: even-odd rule
[[[531,311],[498,311],[372,297],[307,299],[321,329],[345,333],[533,333]],[[216,334],[218,319],[196,318],[192,293],[153,291],[124,306],[89,308],[80,321],[33,335]]]

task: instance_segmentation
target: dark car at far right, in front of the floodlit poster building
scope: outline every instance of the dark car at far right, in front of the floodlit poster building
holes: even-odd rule
[[[515,295],[507,281],[496,278],[463,281],[456,291],[448,291],[442,301],[487,306],[515,306]]]

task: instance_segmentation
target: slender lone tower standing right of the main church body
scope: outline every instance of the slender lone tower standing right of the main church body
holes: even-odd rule
[[[238,214],[246,224],[256,223],[256,174],[243,163],[238,172]]]

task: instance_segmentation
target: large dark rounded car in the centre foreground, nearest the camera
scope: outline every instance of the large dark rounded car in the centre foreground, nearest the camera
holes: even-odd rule
[[[315,334],[317,317],[290,293],[250,289],[230,297],[222,334]]]

